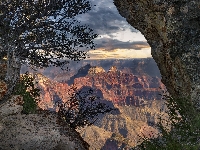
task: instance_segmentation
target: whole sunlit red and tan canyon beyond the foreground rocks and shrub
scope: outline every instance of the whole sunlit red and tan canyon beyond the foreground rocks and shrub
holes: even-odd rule
[[[42,89],[39,102],[42,109],[58,111],[55,103],[68,101],[72,86],[86,91],[92,88],[102,102],[118,109],[116,113],[100,115],[92,126],[77,129],[91,150],[130,149],[139,144],[142,136],[156,137],[158,131],[154,125],[158,117],[167,118],[165,101],[159,95],[161,90],[166,90],[165,86],[157,75],[145,69],[152,60],[138,60],[133,64],[134,69],[121,65],[123,60],[117,61],[120,69],[116,61],[105,69],[92,63],[84,64],[72,71],[67,80],[63,80],[64,74],[59,72],[51,78],[36,73],[36,81]],[[154,70],[156,67],[152,65]]]

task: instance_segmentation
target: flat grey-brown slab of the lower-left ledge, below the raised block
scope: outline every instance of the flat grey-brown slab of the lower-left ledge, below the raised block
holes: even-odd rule
[[[56,150],[61,144],[62,150],[86,149],[78,133],[65,127],[62,134],[61,129],[55,115],[10,115],[1,120],[0,149]]]

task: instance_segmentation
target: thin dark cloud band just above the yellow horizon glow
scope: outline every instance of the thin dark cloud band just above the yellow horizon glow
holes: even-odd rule
[[[102,49],[105,51],[113,51],[115,49],[141,50],[142,48],[149,47],[148,43],[143,41],[123,42],[110,38],[97,39],[96,44],[96,49]]]

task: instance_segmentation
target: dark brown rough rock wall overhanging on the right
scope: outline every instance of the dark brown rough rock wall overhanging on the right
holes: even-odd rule
[[[151,46],[162,82],[173,97],[200,109],[200,1],[114,0],[119,14]]]

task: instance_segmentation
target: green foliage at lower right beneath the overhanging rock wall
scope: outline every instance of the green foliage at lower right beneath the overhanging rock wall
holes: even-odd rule
[[[189,97],[172,98],[164,95],[168,108],[171,131],[163,126],[160,117],[156,127],[161,135],[154,139],[145,139],[135,150],[199,150],[200,114],[196,112]],[[169,122],[169,121],[168,121]],[[168,124],[169,125],[169,124]]]

